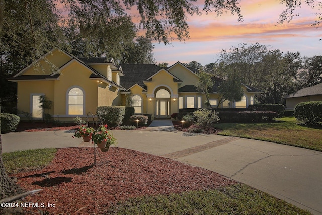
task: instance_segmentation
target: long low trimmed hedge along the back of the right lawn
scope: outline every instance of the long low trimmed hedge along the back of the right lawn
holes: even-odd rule
[[[273,111],[222,111],[218,112],[220,123],[222,122],[267,122],[277,117]]]

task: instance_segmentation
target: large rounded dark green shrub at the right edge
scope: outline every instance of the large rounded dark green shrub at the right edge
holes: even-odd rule
[[[294,107],[295,118],[304,124],[314,125],[322,121],[322,101],[301,102]]]

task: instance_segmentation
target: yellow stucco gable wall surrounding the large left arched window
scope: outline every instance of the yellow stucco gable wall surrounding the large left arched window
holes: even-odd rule
[[[84,114],[86,115],[88,112],[96,113],[98,83],[96,80],[90,80],[90,75],[91,71],[76,61],[63,69],[59,80],[55,81],[55,115],[68,116],[67,97],[68,91],[72,87],[79,87],[84,91]]]

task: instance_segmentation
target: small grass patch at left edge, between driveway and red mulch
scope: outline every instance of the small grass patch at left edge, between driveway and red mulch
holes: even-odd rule
[[[38,169],[48,165],[55,157],[57,149],[25,150],[3,153],[7,173]]]

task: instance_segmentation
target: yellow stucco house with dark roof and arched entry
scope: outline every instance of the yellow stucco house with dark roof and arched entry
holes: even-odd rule
[[[195,87],[196,70],[180,62],[169,68],[155,64],[116,65],[113,59],[76,58],[54,49],[38,64],[24,68],[9,80],[18,83],[18,111],[34,119],[42,117],[41,95],[53,101],[49,114],[61,121],[86,117],[88,112],[95,114],[98,106],[125,105],[130,93],[135,113],[157,118],[169,118],[182,108],[206,108],[206,96]],[[217,87],[223,81],[216,78],[210,92],[213,107],[218,103]],[[240,102],[225,102],[221,107],[247,107],[253,104],[255,94],[262,93],[250,86],[242,87],[244,96]]]

